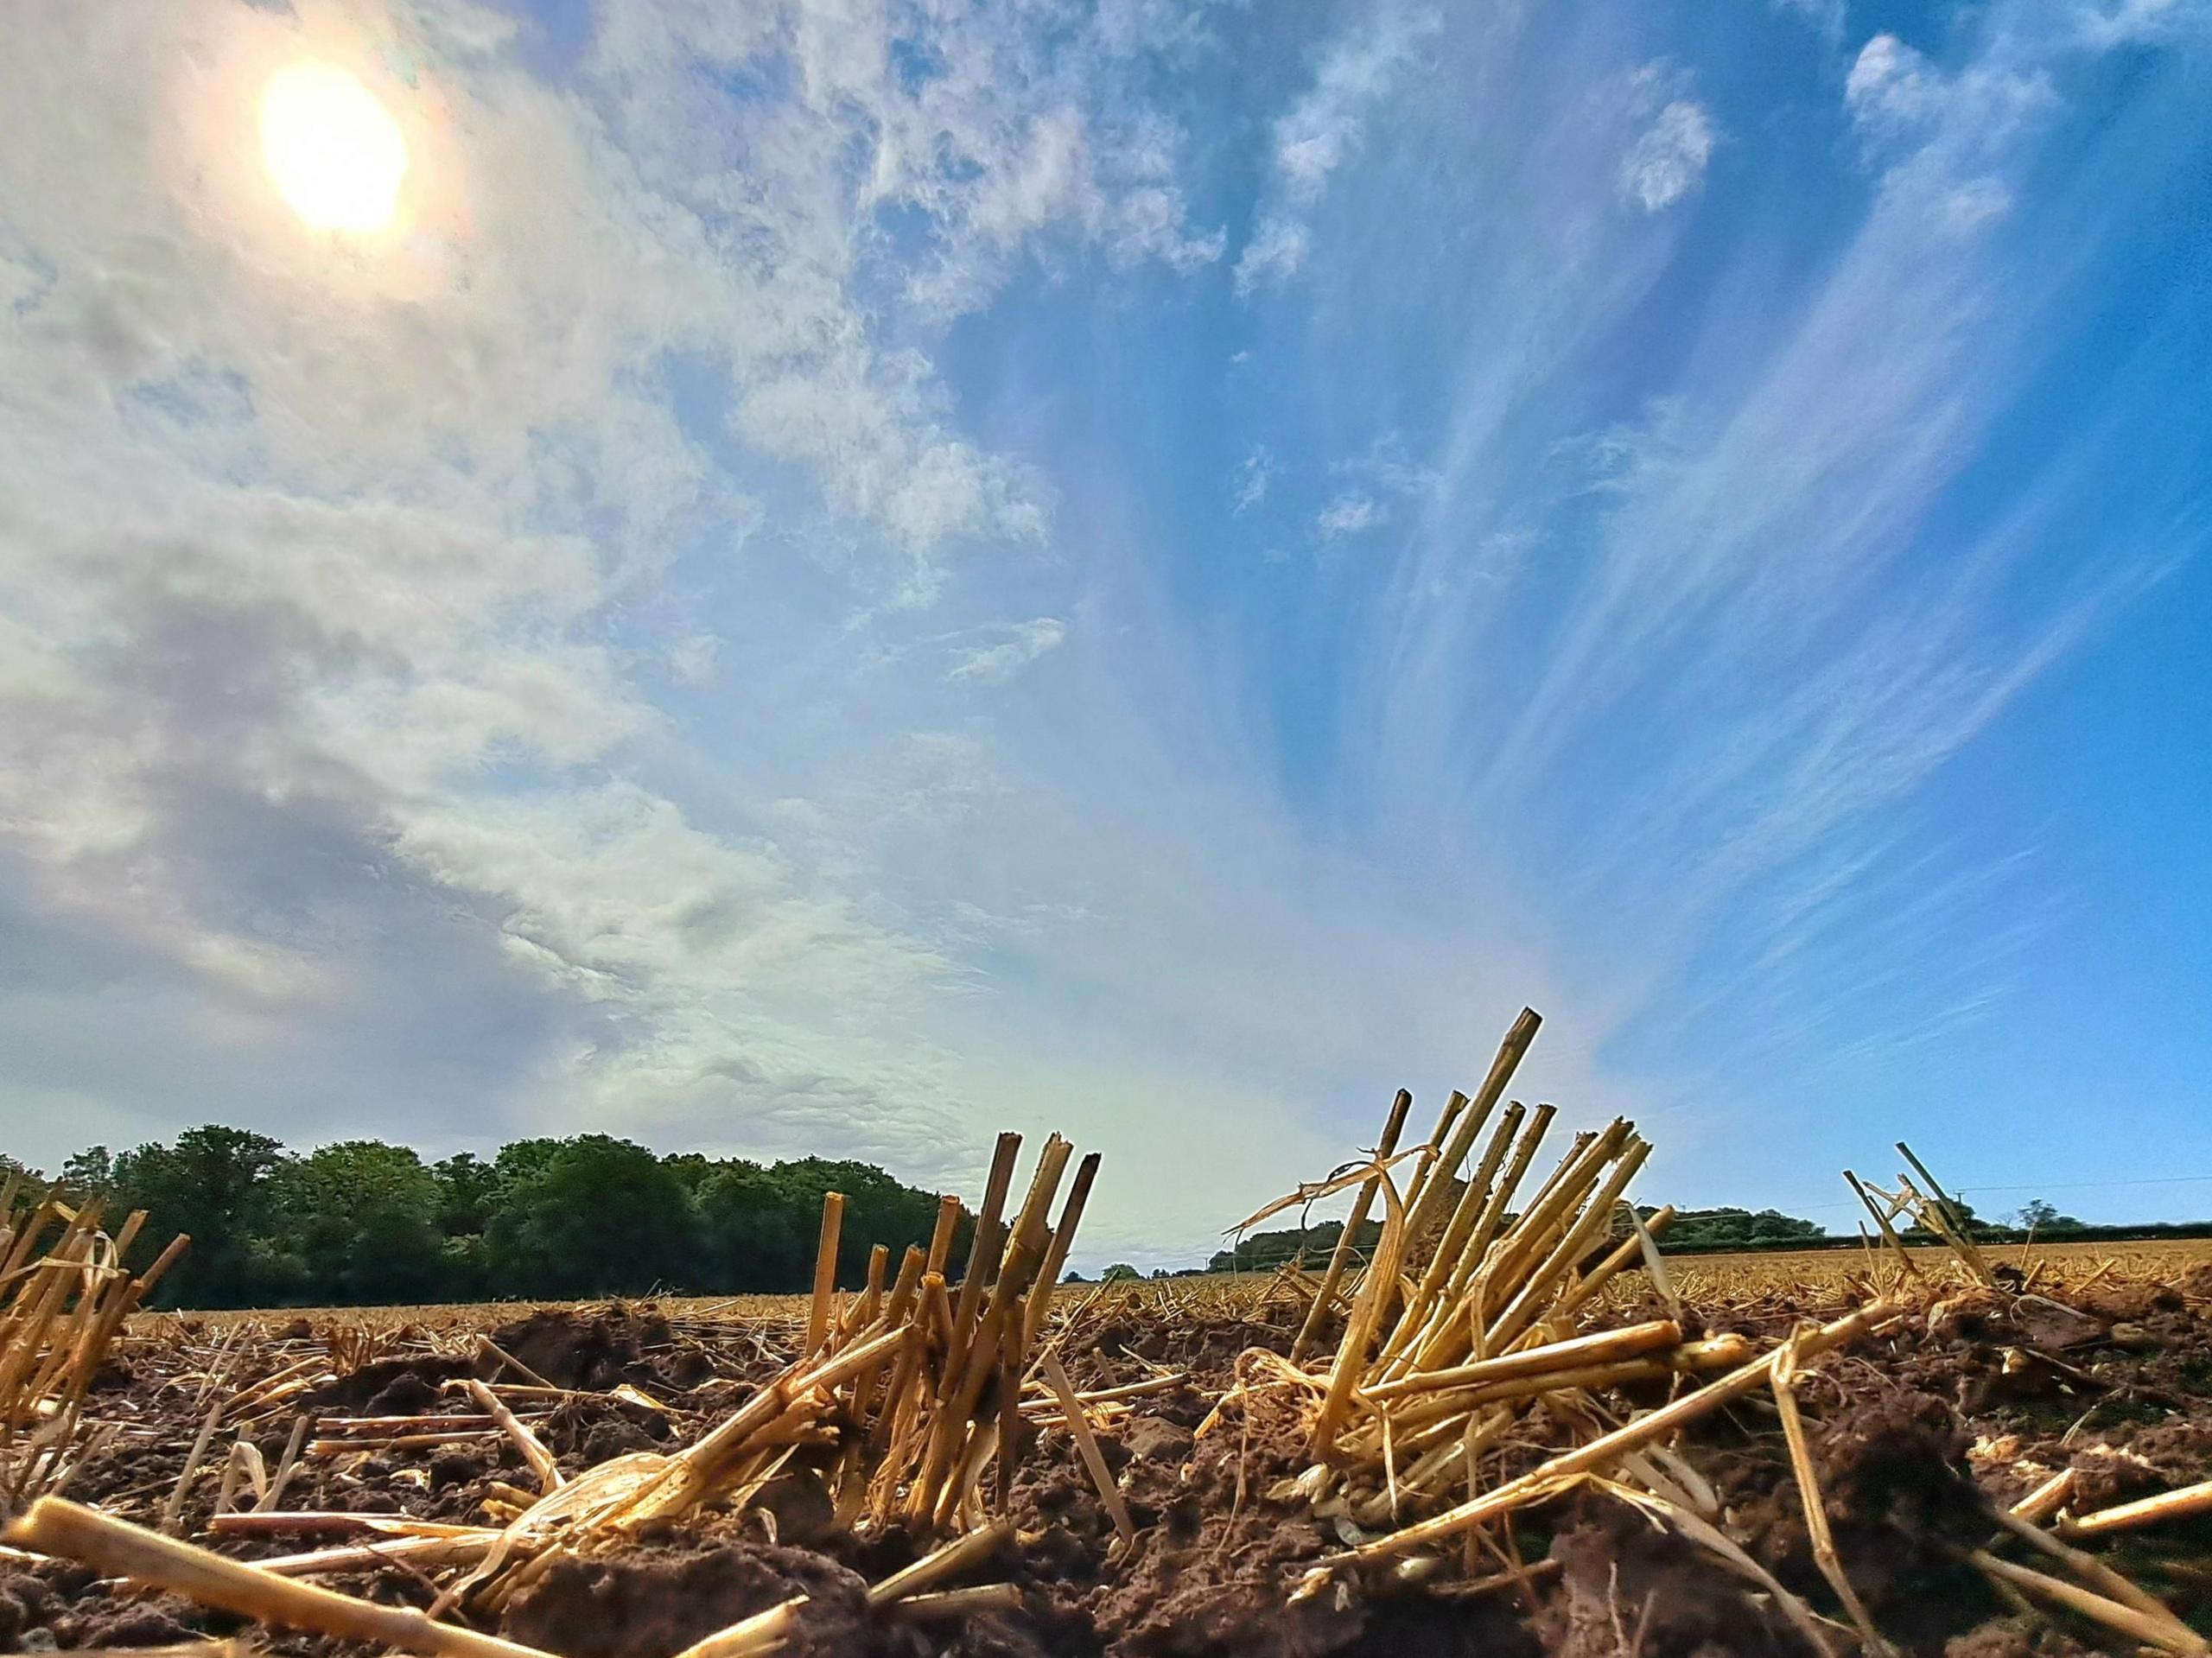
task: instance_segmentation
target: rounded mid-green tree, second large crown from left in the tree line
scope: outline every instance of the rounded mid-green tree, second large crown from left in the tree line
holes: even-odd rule
[[[431,1300],[445,1289],[440,1196],[405,1145],[341,1141],[283,1163],[270,1176],[270,1273],[312,1300]]]

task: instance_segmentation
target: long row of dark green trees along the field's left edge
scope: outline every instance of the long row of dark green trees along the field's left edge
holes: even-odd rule
[[[106,1194],[111,1216],[146,1209],[135,1253],[192,1236],[159,1287],[166,1307],[799,1291],[814,1282],[825,1192],[845,1194],[838,1282],[856,1289],[872,1245],[896,1262],[938,1218],[933,1192],[872,1163],[657,1156],[608,1134],[425,1163],[383,1141],[299,1154],[210,1123],[128,1152],[95,1145],[58,1185]]]

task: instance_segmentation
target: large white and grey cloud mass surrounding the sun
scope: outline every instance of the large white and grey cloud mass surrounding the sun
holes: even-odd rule
[[[562,86],[495,9],[378,13],[367,44],[316,0],[22,24],[0,104],[75,137],[0,150],[0,913],[124,975],[148,1030],[137,1074],[88,1041],[49,1074],[155,1101],[139,1132],[327,1110],[436,1145],[467,1114],[964,1176],[989,1123],[931,1046],[962,970],[927,915],[730,787],[626,663],[712,679],[743,754],[805,776],[812,714],[776,699],[814,646],[752,608],[898,626],[1051,524],[909,343],[929,307],[885,318],[878,212],[929,225],[960,303],[1044,243],[1190,270],[1221,241],[1183,223],[1172,133],[1082,40],[1011,24],[925,29],[942,73],[907,84],[883,18],[617,2]],[[400,119],[403,234],[319,243],[272,206],[239,113],[310,53]],[[752,62],[796,66],[787,95],[699,73]],[[679,420],[677,358],[726,424]],[[949,670],[969,707],[1066,630],[993,626]],[[947,754],[914,765],[960,816]],[[13,1052],[73,1028],[35,1008],[0,1010]],[[363,1028],[414,1035],[288,1090]],[[414,1121],[394,1101],[436,1088],[405,1066],[447,1052],[469,1112]]]

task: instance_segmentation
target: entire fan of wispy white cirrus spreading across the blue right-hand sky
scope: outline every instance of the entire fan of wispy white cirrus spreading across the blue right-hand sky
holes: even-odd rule
[[[1557,82],[1535,86],[1513,73],[1533,33],[1482,51],[1451,35],[1444,73],[1500,91],[1449,139],[1363,170],[1358,195],[1378,206],[1352,225],[1374,250],[1332,239],[1303,270],[1329,307],[1294,340],[1318,376],[1360,385],[1378,349],[1413,385],[1436,358],[1464,367],[1438,374],[1449,438],[1413,427],[1438,455],[1433,489],[1376,557],[1316,581],[1316,626],[1356,628],[1365,672],[1323,727],[1327,760],[1301,765],[1327,765],[1334,798],[1376,802],[1358,822],[1398,856],[1491,873],[1504,858],[1559,895],[1546,909],[1582,915],[1593,946],[1615,940],[1619,977],[1577,995],[1615,1010],[1624,1043],[1666,1052],[1657,1026],[1697,1006],[1701,984],[1730,984],[1741,993],[1710,1012],[1732,1035],[1712,1041],[1825,1074],[1820,1039],[1876,1063],[1880,1021],[1922,993],[1955,1017],[1905,1024],[1944,1048],[1960,1021],[2000,1019],[2028,968],[2013,935],[1960,937],[1986,928],[1964,898],[1882,944],[1869,904],[1916,853],[1898,816],[2174,568],[2161,513],[2199,522],[2168,497],[2095,557],[2053,544],[2090,455],[2117,455],[2104,436],[2126,418],[2117,391],[2104,424],[2051,416],[2064,447],[2037,453],[2015,511],[1978,471],[2004,422],[2020,440],[2053,340],[2081,327],[2084,272],[2161,190],[2159,164],[2126,159],[2148,128],[2106,135],[2077,104],[2101,97],[2084,13],[2000,7],[1940,51],[1854,42],[1818,115],[1836,139],[1823,188],[1838,234],[1801,263],[1763,259],[1754,214],[1701,265],[1714,312],[1668,336],[1659,376],[1615,356],[1679,316],[1679,292],[1661,312],[1648,283],[1683,256],[1681,214],[1644,210],[1692,190],[1719,208],[1725,188],[1728,210],[1747,212],[1739,183],[1756,201],[1794,168],[1745,144],[1730,172],[1754,177],[1717,183],[1721,135],[1752,130],[1752,111],[1690,60],[1624,69],[1593,51],[1562,73],[1546,57]],[[2161,84],[2168,119],[2174,84]],[[2161,130],[2170,157],[2194,141]],[[1409,254],[1383,203],[1416,190],[1440,148],[1473,181],[1431,223],[1471,230],[1420,270],[1469,296],[1458,336],[1420,332],[1427,290],[1391,301]],[[1491,157],[1511,157],[1504,179],[1482,175]],[[1610,214],[1593,208],[1608,190]],[[1531,245],[1553,256],[1522,259]],[[1367,409],[1405,422],[1405,385],[1376,387]],[[1608,396],[1615,418],[1593,420]],[[1316,424],[1343,442],[1347,418]],[[1336,491],[1307,513],[1316,533],[1323,513],[1369,526],[1367,502],[1380,508],[1371,491]],[[2183,535],[2201,544],[2201,522]],[[2015,853],[2002,833],[1953,836],[1942,884],[1986,902],[1973,860],[2017,869]],[[1902,966],[1854,979],[1838,962],[1863,948],[1905,951]],[[1686,1061],[1683,1088],[1714,1070]]]

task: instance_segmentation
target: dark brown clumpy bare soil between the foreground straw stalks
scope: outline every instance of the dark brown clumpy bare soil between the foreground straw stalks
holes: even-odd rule
[[[1781,1335],[1798,1313],[1772,1300],[1708,1311],[1710,1329]],[[2053,1311],[2053,1307],[2057,1311]],[[2024,1618],[1962,1554],[1982,1547],[1993,1505],[2073,1468],[2077,1508],[2212,1479],[2212,1269],[2181,1284],[2117,1284],[2037,1304],[1960,1295],[1880,1340],[1812,1366],[1798,1382],[1820,1503],[1874,1625],[1911,1658],[2070,1658],[2119,1651],[2066,1614]],[[1615,1309],[1621,1322],[1648,1307]],[[650,1307],[544,1311],[489,1329],[546,1382],[568,1388],[533,1410],[564,1470],[630,1450],[672,1448],[750,1397],[790,1357],[757,1329],[730,1340]],[[1504,1559],[1458,1554],[1429,1578],[1394,1572],[1310,1578],[1340,1552],[1349,1521],[1274,1494],[1307,1466],[1305,1417],[1267,1386],[1252,1349],[1283,1353],[1290,1318],[1102,1318],[1068,1344],[1082,1388],[1144,1382],[1172,1366],[1188,1382],[1135,1397],[1102,1421],[1137,1545],[1121,1550],[1068,1435],[1031,1435],[1011,1486],[1015,1541],[967,1581],[1013,1583],[1020,1607],[956,1623],[909,1623],[867,1605],[867,1583],[914,1561],[902,1532],[852,1536],[830,1517],[812,1472],[761,1494],[757,1510],[699,1530],[564,1559],[515,1594],[498,1631],[562,1658],[670,1658],[706,1634],[805,1594],[796,1658],[1770,1658],[1805,1654],[1805,1636],[1756,1583],[1641,1510],[1582,1490],[1526,1510]],[[274,1320],[232,1375],[243,1386],[321,1349],[327,1333]],[[451,1410],[442,1386],[491,1375],[469,1333],[409,1337],[376,1351],[307,1404],[319,1433],[345,1417]],[[117,1357],[115,1410],[131,1433],[84,1466],[71,1497],[150,1521],[181,1472],[206,1402],[192,1373],[157,1344]],[[515,1379],[504,1375],[502,1379]],[[617,1397],[628,1386],[639,1397]],[[659,1408],[655,1408],[655,1404]],[[1641,1402],[1615,1402],[1628,1408]],[[518,1406],[522,1408],[522,1406]],[[268,1466],[288,1410],[254,1426]],[[223,1444],[219,1439],[219,1444]],[[1681,1459],[1719,1497],[1714,1523],[1823,1618],[1838,1658],[1856,1651],[1843,1607],[1814,1559],[1805,1492],[1772,1404],[1754,1395],[1705,1417]],[[1531,1439],[1502,1463],[1542,1455]],[[1515,1457],[1520,1461],[1515,1461]],[[186,1494],[181,1532],[206,1541],[221,1457]],[[425,1448],[367,1448],[303,1459],[283,1508],[478,1519],[493,1483],[529,1483],[504,1437]],[[307,1547],[299,1539],[228,1539],[241,1559]],[[2146,1589],[2212,1631],[2212,1523],[2185,1521],[2099,1545]],[[1506,1570],[1526,1563],[1520,1581]],[[1464,1592],[1460,1581],[1480,1578]],[[330,1581],[380,1601],[427,1605],[422,1578],[387,1567]],[[126,1587],[60,1563],[0,1563],[0,1651],[150,1647],[232,1634],[237,1618]],[[259,1636],[257,1636],[259,1638]],[[268,1634],[283,1658],[354,1658],[343,1643]]]

